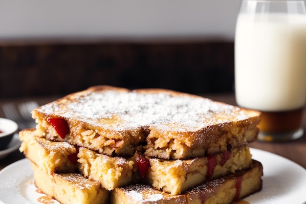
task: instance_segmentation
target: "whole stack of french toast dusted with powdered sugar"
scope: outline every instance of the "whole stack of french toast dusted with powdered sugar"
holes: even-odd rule
[[[32,111],[35,185],[61,204],[231,204],[262,189],[260,112],[187,93],[95,86]]]

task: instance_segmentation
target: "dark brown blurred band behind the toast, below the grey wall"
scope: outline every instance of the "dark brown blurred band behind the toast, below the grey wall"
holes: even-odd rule
[[[232,91],[233,59],[226,42],[1,46],[0,95],[66,94],[99,84]]]

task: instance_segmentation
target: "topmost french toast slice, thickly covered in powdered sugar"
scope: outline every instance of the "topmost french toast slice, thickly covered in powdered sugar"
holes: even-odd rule
[[[161,89],[95,86],[32,111],[37,135],[109,156],[203,157],[255,141],[260,112]]]

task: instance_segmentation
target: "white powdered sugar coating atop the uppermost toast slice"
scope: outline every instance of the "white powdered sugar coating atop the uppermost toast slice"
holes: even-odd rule
[[[118,131],[151,125],[164,125],[164,129],[171,130],[195,130],[210,124],[248,118],[235,106],[165,92],[84,91],[83,95],[65,100],[65,103],[49,103],[37,110],[108,128],[113,126]],[[112,122],[108,124],[107,120]]]

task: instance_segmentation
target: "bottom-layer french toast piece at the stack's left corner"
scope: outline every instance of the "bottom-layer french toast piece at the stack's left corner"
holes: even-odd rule
[[[35,185],[61,204],[108,204],[109,191],[78,173],[48,174],[31,162]]]

